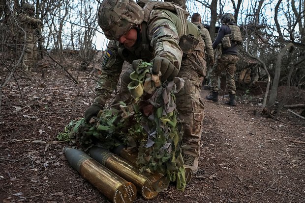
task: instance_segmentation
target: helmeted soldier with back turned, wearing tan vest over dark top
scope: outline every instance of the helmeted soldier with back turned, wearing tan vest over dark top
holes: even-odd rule
[[[230,98],[226,104],[235,106],[236,86],[234,75],[236,72],[236,62],[239,59],[237,47],[242,42],[242,35],[231,13],[225,13],[221,17],[221,23],[222,26],[219,28],[217,37],[213,43],[213,49],[216,49],[216,59],[211,74],[212,94],[207,96],[206,99],[215,102],[218,101],[219,89],[217,86],[217,78],[225,70]]]

